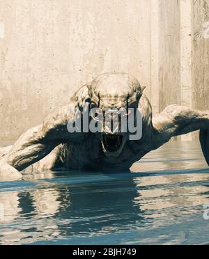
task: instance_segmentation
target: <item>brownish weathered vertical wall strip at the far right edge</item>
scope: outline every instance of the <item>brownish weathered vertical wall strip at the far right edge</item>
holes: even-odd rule
[[[209,0],[193,0],[192,12],[193,106],[209,110]]]

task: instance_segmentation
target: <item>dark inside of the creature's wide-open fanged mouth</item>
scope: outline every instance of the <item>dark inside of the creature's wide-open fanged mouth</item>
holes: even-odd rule
[[[121,135],[103,135],[103,145],[105,150],[109,152],[118,151],[123,143],[123,136]]]

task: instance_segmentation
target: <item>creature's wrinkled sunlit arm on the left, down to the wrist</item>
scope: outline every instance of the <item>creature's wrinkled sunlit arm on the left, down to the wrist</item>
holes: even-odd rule
[[[67,130],[68,122],[74,119],[75,107],[72,104],[49,114],[42,125],[20,136],[8,154],[8,164],[22,171],[47,156],[60,143],[75,141],[79,135]]]

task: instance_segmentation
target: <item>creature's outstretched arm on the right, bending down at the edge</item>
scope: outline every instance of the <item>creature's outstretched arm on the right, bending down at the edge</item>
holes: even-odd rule
[[[162,113],[153,116],[156,141],[165,143],[173,136],[200,130],[203,155],[209,166],[209,111],[197,111],[187,107],[171,105]]]

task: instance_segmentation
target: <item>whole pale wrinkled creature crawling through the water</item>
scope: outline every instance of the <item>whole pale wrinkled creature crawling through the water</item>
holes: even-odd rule
[[[14,146],[0,149],[0,173],[18,173],[33,165],[33,170],[45,171],[57,167],[93,171],[126,171],[148,152],[167,143],[173,136],[201,130],[200,141],[209,165],[209,112],[171,105],[153,115],[150,102],[143,94],[139,81],[128,74],[102,74],[91,86],[83,86],[65,107],[49,114],[42,125],[20,136]],[[85,104],[90,107],[128,107],[141,109],[143,136],[139,141],[128,140],[118,152],[102,148],[102,134],[73,133],[68,121],[75,120],[75,110]],[[111,134],[110,130],[104,134]]]

